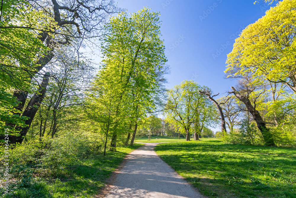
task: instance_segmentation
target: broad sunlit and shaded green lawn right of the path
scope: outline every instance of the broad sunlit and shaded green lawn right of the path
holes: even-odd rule
[[[296,197],[296,150],[223,144],[217,138],[160,144],[156,153],[208,197]]]

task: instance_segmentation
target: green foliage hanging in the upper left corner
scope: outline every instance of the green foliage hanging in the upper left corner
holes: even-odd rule
[[[7,88],[30,89],[30,79],[36,72],[39,56],[49,50],[37,36],[41,31],[7,26],[30,26],[31,28],[54,28],[56,22],[41,11],[32,9],[29,1],[3,1],[0,20],[0,80]],[[49,27],[51,26],[51,27]]]

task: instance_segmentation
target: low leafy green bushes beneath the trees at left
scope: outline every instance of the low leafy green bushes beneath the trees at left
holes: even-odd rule
[[[102,144],[95,134],[67,133],[51,138],[49,136],[29,139],[22,144],[10,145],[8,158],[4,156],[4,147],[0,148],[0,162],[9,159],[9,173],[16,187],[24,187],[34,177],[57,177],[63,174],[66,167],[78,164],[80,159],[100,153]],[[3,168],[0,167],[1,178]]]

